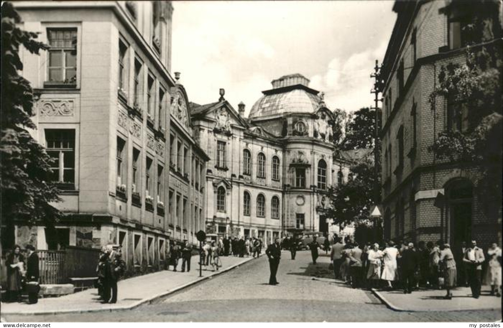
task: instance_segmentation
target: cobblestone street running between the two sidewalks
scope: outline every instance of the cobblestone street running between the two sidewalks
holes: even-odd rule
[[[225,261],[226,258],[223,258]],[[309,252],[295,261],[282,254],[277,286],[267,284],[266,257],[228,273],[183,289],[155,304],[134,310],[15,316],[8,321],[458,321],[490,322],[501,318],[497,310],[397,312],[388,309],[370,291],[330,282],[328,258],[313,266]],[[314,279],[314,280],[313,280]]]

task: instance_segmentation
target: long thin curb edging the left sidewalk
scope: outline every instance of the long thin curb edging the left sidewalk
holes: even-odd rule
[[[260,258],[261,256],[265,255],[265,253],[261,254],[258,258]],[[257,259],[258,259],[257,258]],[[196,280],[193,280],[193,281],[190,281],[184,285],[181,285],[181,286],[177,286],[173,289],[170,289],[169,291],[167,292],[162,292],[162,293],[159,293],[159,294],[156,294],[154,296],[151,296],[151,297],[148,297],[148,298],[144,298],[140,301],[137,301],[131,305],[128,305],[128,306],[117,306],[117,307],[111,307],[111,308],[99,308],[99,309],[89,309],[89,310],[60,310],[60,311],[34,311],[34,312],[30,312],[30,313],[16,313],[16,312],[9,312],[9,313],[2,313],[3,315],[56,315],[56,314],[70,314],[70,313],[92,313],[92,312],[113,312],[113,311],[125,311],[125,310],[132,310],[132,309],[135,309],[137,308],[138,306],[140,305],[143,305],[143,304],[152,304],[152,302],[154,302],[155,300],[158,300],[162,297],[165,297],[167,295],[170,295],[170,294],[173,294],[175,292],[178,292],[184,288],[187,288],[187,287],[190,287],[192,285],[195,285],[197,283],[200,283],[204,280],[207,280],[207,279],[210,279],[210,278],[213,278],[214,276],[218,276],[222,273],[225,273],[227,271],[230,271],[232,269],[235,269],[235,268],[238,268],[240,265],[243,265],[245,263],[248,263],[252,260],[255,260],[255,258],[247,258],[246,260],[243,260],[241,262],[238,262],[228,268],[225,268],[224,270],[221,270],[221,271],[215,271],[213,272],[211,275],[209,276],[206,276],[206,277],[198,277]],[[4,317],[2,317],[2,322],[7,322],[5,320]]]

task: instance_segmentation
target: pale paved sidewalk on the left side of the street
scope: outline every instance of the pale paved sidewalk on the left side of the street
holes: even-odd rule
[[[219,271],[212,272],[211,266],[209,266],[208,270],[203,269],[202,278],[199,277],[199,265],[197,264],[199,256],[193,256],[190,272],[180,272],[182,267],[182,261],[180,260],[178,272],[159,271],[121,280],[117,284],[118,297],[116,304],[102,304],[98,299],[98,290],[92,288],[61,297],[40,298],[37,304],[2,303],[0,314],[56,314],[132,309],[199,281],[211,278],[214,275],[231,270],[253,260],[253,257],[223,256],[220,259],[222,260],[222,267],[219,268]]]

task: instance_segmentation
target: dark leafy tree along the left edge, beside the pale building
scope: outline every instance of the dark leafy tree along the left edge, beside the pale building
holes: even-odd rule
[[[59,201],[58,189],[51,183],[51,157],[30,135],[36,129],[31,117],[33,91],[19,71],[23,63],[19,48],[32,54],[48,47],[36,41],[37,33],[23,31],[16,24],[21,18],[10,3],[2,5],[2,119],[0,156],[2,219],[28,224],[51,224],[60,212],[50,202]]]

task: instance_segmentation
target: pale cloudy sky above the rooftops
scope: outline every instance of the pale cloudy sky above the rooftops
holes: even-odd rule
[[[375,60],[384,58],[393,1],[176,1],[172,72],[189,101],[225,99],[248,115],[282,75],[301,73],[328,108],[373,106]]]

